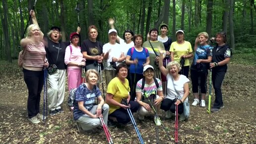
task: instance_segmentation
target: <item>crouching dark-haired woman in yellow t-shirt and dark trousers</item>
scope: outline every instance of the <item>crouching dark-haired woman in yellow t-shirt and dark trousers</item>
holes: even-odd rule
[[[115,127],[118,123],[130,126],[130,117],[127,112],[128,106],[122,103],[122,99],[127,99],[132,113],[139,108],[138,102],[130,101],[130,87],[127,77],[128,67],[122,63],[117,67],[117,76],[113,78],[107,88],[106,103],[109,105],[109,127]]]

